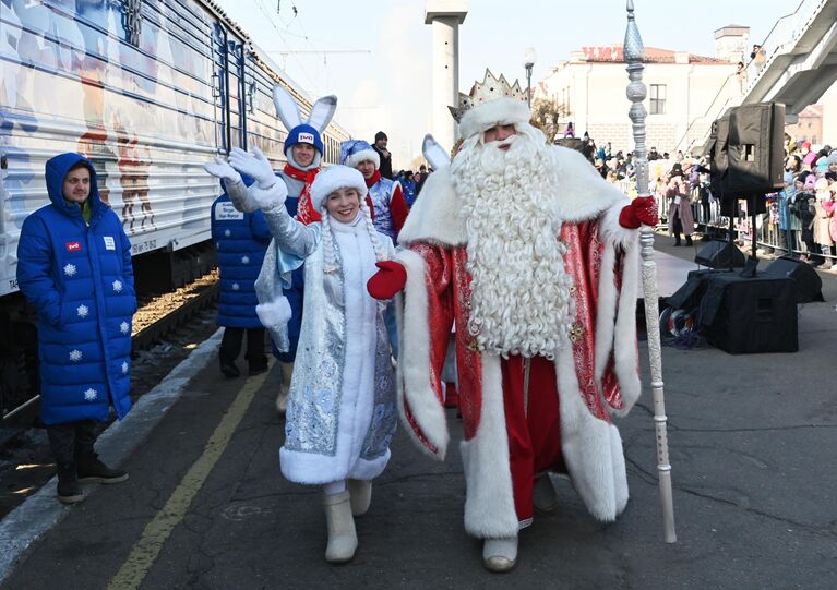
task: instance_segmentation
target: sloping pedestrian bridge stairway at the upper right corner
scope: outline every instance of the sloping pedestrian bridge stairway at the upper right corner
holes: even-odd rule
[[[675,149],[700,153],[712,122],[740,105],[784,103],[786,122],[796,122],[837,81],[837,0],[802,0],[776,22],[762,50],[764,59],[751,60],[743,79],[733,74],[726,80]]]

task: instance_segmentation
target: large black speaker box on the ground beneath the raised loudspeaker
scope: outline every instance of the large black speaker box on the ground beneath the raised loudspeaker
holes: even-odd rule
[[[724,273],[709,278],[702,334],[731,354],[799,350],[793,280]]]

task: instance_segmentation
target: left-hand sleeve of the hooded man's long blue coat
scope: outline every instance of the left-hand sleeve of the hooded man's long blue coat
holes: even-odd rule
[[[49,234],[43,224],[32,216],[23,222],[17,242],[17,287],[44,322],[59,327],[61,293],[52,274]]]

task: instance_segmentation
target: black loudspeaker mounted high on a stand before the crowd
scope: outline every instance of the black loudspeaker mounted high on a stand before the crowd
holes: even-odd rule
[[[763,197],[784,188],[785,105],[756,103],[730,110],[724,195]]]

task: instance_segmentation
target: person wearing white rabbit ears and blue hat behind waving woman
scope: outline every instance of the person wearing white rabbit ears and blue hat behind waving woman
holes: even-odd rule
[[[275,176],[279,178],[288,190],[285,207],[288,214],[295,216],[302,224],[320,220],[320,215],[311,205],[311,186],[320,172],[320,164],[323,156],[322,133],[334,117],[337,108],[336,96],[324,96],[318,99],[311,107],[311,113],[307,120],[302,120],[292,96],[279,84],[273,88],[273,103],[276,113],[282,120],[288,135],[285,139],[285,157],[287,164]],[[264,159],[261,150],[254,148],[254,153]],[[247,153],[234,147],[230,156],[244,158]],[[266,159],[264,159],[266,161]],[[229,193],[236,208],[244,213],[253,212],[258,206],[248,200],[247,186],[241,182],[239,173],[220,158],[204,166],[207,172],[220,178]],[[282,290],[287,301],[279,298],[271,298],[272,305],[260,305],[260,313],[265,326],[271,333],[274,344],[274,354],[279,361],[282,384],[276,396],[276,409],[279,413],[285,412],[287,406],[290,378],[294,372],[294,360],[299,344],[299,333],[302,322],[302,303],[304,300],[304,285],[302,270],[297,269],[288,277],[279,278],[274,268],[275,248],[268,248],[265,267],[260,276],[262,284],[268,290]],[[285,320],[290,309],[290,317]]]

